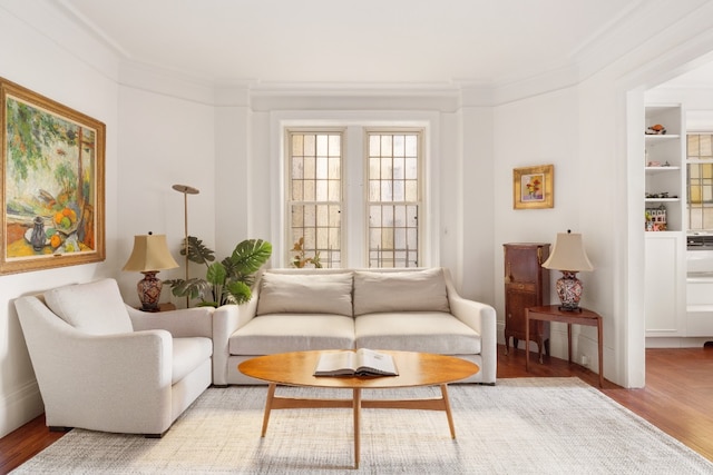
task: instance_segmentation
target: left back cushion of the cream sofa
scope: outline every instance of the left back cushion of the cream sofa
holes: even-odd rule
[[[265,273],[256,315],[335,314],[352,316],[352,273]]]

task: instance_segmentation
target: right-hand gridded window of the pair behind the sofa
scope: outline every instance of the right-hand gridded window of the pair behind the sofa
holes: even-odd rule
[[[419,265],[419,132],[369,132],[369,267]]]

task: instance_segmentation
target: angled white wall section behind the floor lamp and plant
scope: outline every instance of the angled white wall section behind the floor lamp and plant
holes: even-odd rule
[[[172,186],[188,185],[199,190],[197,195],[187,195],[188,235],[215,249],[214,107],[134,86],[119,88],[118,103],[120,167],[117,178],[118,188],[124,190],[117,204],[119,266],[131,253],[133,236],[149,231],[165,234],[180,267],[163,270],[158,277],[183,278],[185,257],[179,253],[186,200]],[[191,265],[191,276],[203,275],[204,268]],[[141,275],[120,273],[117,278],[126,301],[138,306],[136,283]],[[162,301],[170,300],[185,307],[185,299],[173,297],[168,287],[162,295]]]

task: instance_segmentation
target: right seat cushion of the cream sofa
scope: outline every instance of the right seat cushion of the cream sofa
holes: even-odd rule
[[[441,355],[480,354],[480,335],[450,314],[393,311],[354,319],[356,348],[423,352]]]

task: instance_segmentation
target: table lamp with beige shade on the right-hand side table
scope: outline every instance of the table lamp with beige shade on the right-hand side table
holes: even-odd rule
[[[555,248],[549,258],[543,263],[546,269],[561,271],[561,278],[556,283],[557,295],[561,306],[560,310],[582,311],[579,298],[582,297],[582,280],[577,278],[577,273],[582,270],[594,270],[594,266],[584,250],[580,234],[558,232]]]

